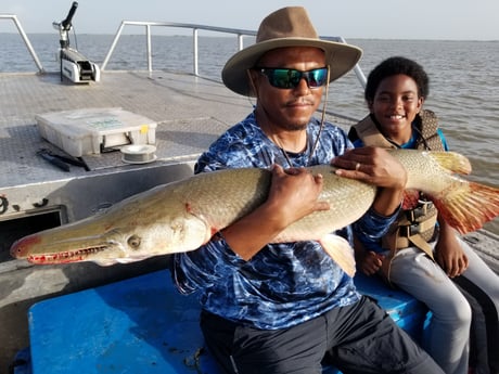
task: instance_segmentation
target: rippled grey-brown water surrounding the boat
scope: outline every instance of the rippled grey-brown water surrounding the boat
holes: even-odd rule
[[[59,34],[28,35],[41,64],[57,72]],[[102,64],[113,41],[111,35],[71,36],[72,47]],[[251,38],[246,43],[253,42]],[[411,57],[430,76],[425,107],[440,118],[452,150],[468,156],[473,166],[471,180],[499,185],[499,41],[371,40],[353,39],[363,50],[360,67],[366,75],[393,55]],[[36,72],[17,34],[0,34],[0,73]],[[220,70],[236,50],[235,38],[200,37],[200,74],[220,80]],[[189,36],[153,36],[153,68],[192,72],[192,40]],[[123,36],[106,69],[146,69],[145,36]],[[104,73],[105,74],[105,73]],[[333,82],[328,107],[361,118],[367,114],[362,89],[355,74]],[[499,233],[499,220],[486,225]]]

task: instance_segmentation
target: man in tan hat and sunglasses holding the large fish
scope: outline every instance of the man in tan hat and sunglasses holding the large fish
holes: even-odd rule
[[[357,235],[378,240],[397,216],[401,165],[381,149],[347,152],[346,133],[312,117],[328,83],[360,54],[320,40],[303,8],[284,8],[223,67],[225,85],[256,96],[256,106],[200,157],[195,172],[272,167],[269,196],[172,262],[180,292],[201,291],[201,326],[223,373],[321,373],[323,360],[344,373],[443,373],[318,242],[272,243],[291,223],[329,208],[318,201],[321,176],[303,168],[310,165],[332,162],[340,175],[380,188]],[[341,234],[351,241],[351,228]]]

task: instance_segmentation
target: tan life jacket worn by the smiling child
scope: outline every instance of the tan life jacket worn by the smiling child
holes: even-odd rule
[[[445,151],[442,138],[437,133],[438,119],[432,111],[421,111],[414,119],[414,126],[419,132],[418,150]],[[354,131],[364,145],[397,149],[396,144],[381,133],[370,115],[353,126],[350,138],[355,137]],[[422,193],[419,195],[418,203],[410,205],[406,197],[398,219],[382,240],[382,247],[389,249],[393,256],[398,249],[415,246],[433,259],[428,241],[436,235],[437,210]]]

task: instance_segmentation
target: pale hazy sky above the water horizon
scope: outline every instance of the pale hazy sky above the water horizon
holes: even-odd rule
[[[26,34],[56,33],[72,0],[2,0],[0,14],[15,14]],[[175,22],[256,30],[286,5],[303,5],[319,35],[345,39],[499,40],[499,0],[79,0],[77,34],[114,35],[121,21]],[[126,34],[133,33],[129,26]],[[17,33],[0,18],[0,33]],[[174,31],[172,31],[174,33]],[[175,34],[181,34],[179,33]]]

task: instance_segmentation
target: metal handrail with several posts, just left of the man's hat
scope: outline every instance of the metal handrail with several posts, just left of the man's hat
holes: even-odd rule
[[[110,47],[110,50],[102,62],[101,72],[105,70],[107,66],[107,62],[111,59],[111,55],[114,52],[114,49],[121,36],[121,31],[125,26],[145,26],[145,35],[146,35],[146,49],[148,49],[148,70],[152,73],[152,54],[151,54],[151,26],[161,26],[161,27],[178,27],[178,28],[189,28],[192,29],[192,53],[193,53],[193,66],[192,66],[192,74],[199,76],[199,54],[197,54],[197,39],[199,39],[199,30],[206,30],[206,31],[217,31],[222,34],[234,34],[238,37],[238,47],[239,50],[243,49],[243,38],[245,36],[256,36],[256,31],[252,30],[244,30],[239,28],[226,28],[226,27],[214,27],[214,26],[205,26],[205,25],[195,25],[195,24],[181,24],[175,22],[142,22],[142,21],[121,21],[121,24],[116,31],[114,40]]]

